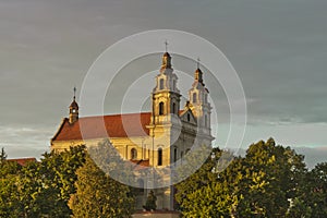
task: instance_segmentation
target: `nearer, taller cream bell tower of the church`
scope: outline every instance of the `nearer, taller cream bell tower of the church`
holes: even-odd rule
[[[149,164],[154,167],[169,166],[171,146],[175,142],[174,133],[179,133],[179,110],[181,94],[177,87],[178,76],[171,66],[170,53],[164,53],[161,68],[155,77],[155,87],[152,92],[152,118],[147,125],[152,137],[153,150]]]

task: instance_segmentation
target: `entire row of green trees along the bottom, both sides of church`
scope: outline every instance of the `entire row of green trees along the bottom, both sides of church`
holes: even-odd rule
[[[125,164],[108,143],[89,149],[92,155],[76,146],[25,166],[1,149],[0,217],[130,217],[133,189],[110,175],[135,177],[117,167]],[[198,155],[208,152],[201,166]],[[272,138],[250,145],[244,157],[204,145],[184,158],[187,165],[174,173],[197,170],[175,185],[183,217],[327,217],[327,162],[307,170],[304,156]],[[147,209],[155,202],[149,194]]]

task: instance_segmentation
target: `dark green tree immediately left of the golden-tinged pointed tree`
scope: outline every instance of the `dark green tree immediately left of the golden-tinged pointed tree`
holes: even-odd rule
[[[50,217],[70,217],[68,206],[70,195],[75,193],[74,186],[77,175],[76,170],[85,162],[86,149],[84,145],[70,147],[62,153],[51,152],[45,154],[35,173],[38,182],[37,205],[41,215]]]

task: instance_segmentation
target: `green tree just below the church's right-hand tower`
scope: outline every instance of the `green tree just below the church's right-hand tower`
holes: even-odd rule
[[[186,157],[187,165],[194,165],[194,162],[197,165],[196,156],[204,154],[202,149],[207,149],[207,147],[203,146],[199,153],[193,152]],[[229,197],[228,182],[219,182],[222,181],[222,173],[217,174],[215,170],[217,169],[216,161],[221,157],[222,150],[214,148],[211,152],[214,158],[207,157],[195,173],[175,185],[175,199],[184,217],[227,217],[231,213],[234,198]],[[226,157],[230,159],[231,154],[226,153]],[[181,168],[180,171],[187,172],[187,166]]]

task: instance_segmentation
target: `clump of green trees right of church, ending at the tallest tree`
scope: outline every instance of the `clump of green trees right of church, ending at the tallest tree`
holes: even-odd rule
[[[272,138],[232,161],[229,153],[214,153],[215,159],[177,185],[184,217],[286,217],[306,174],[303,156]]]

